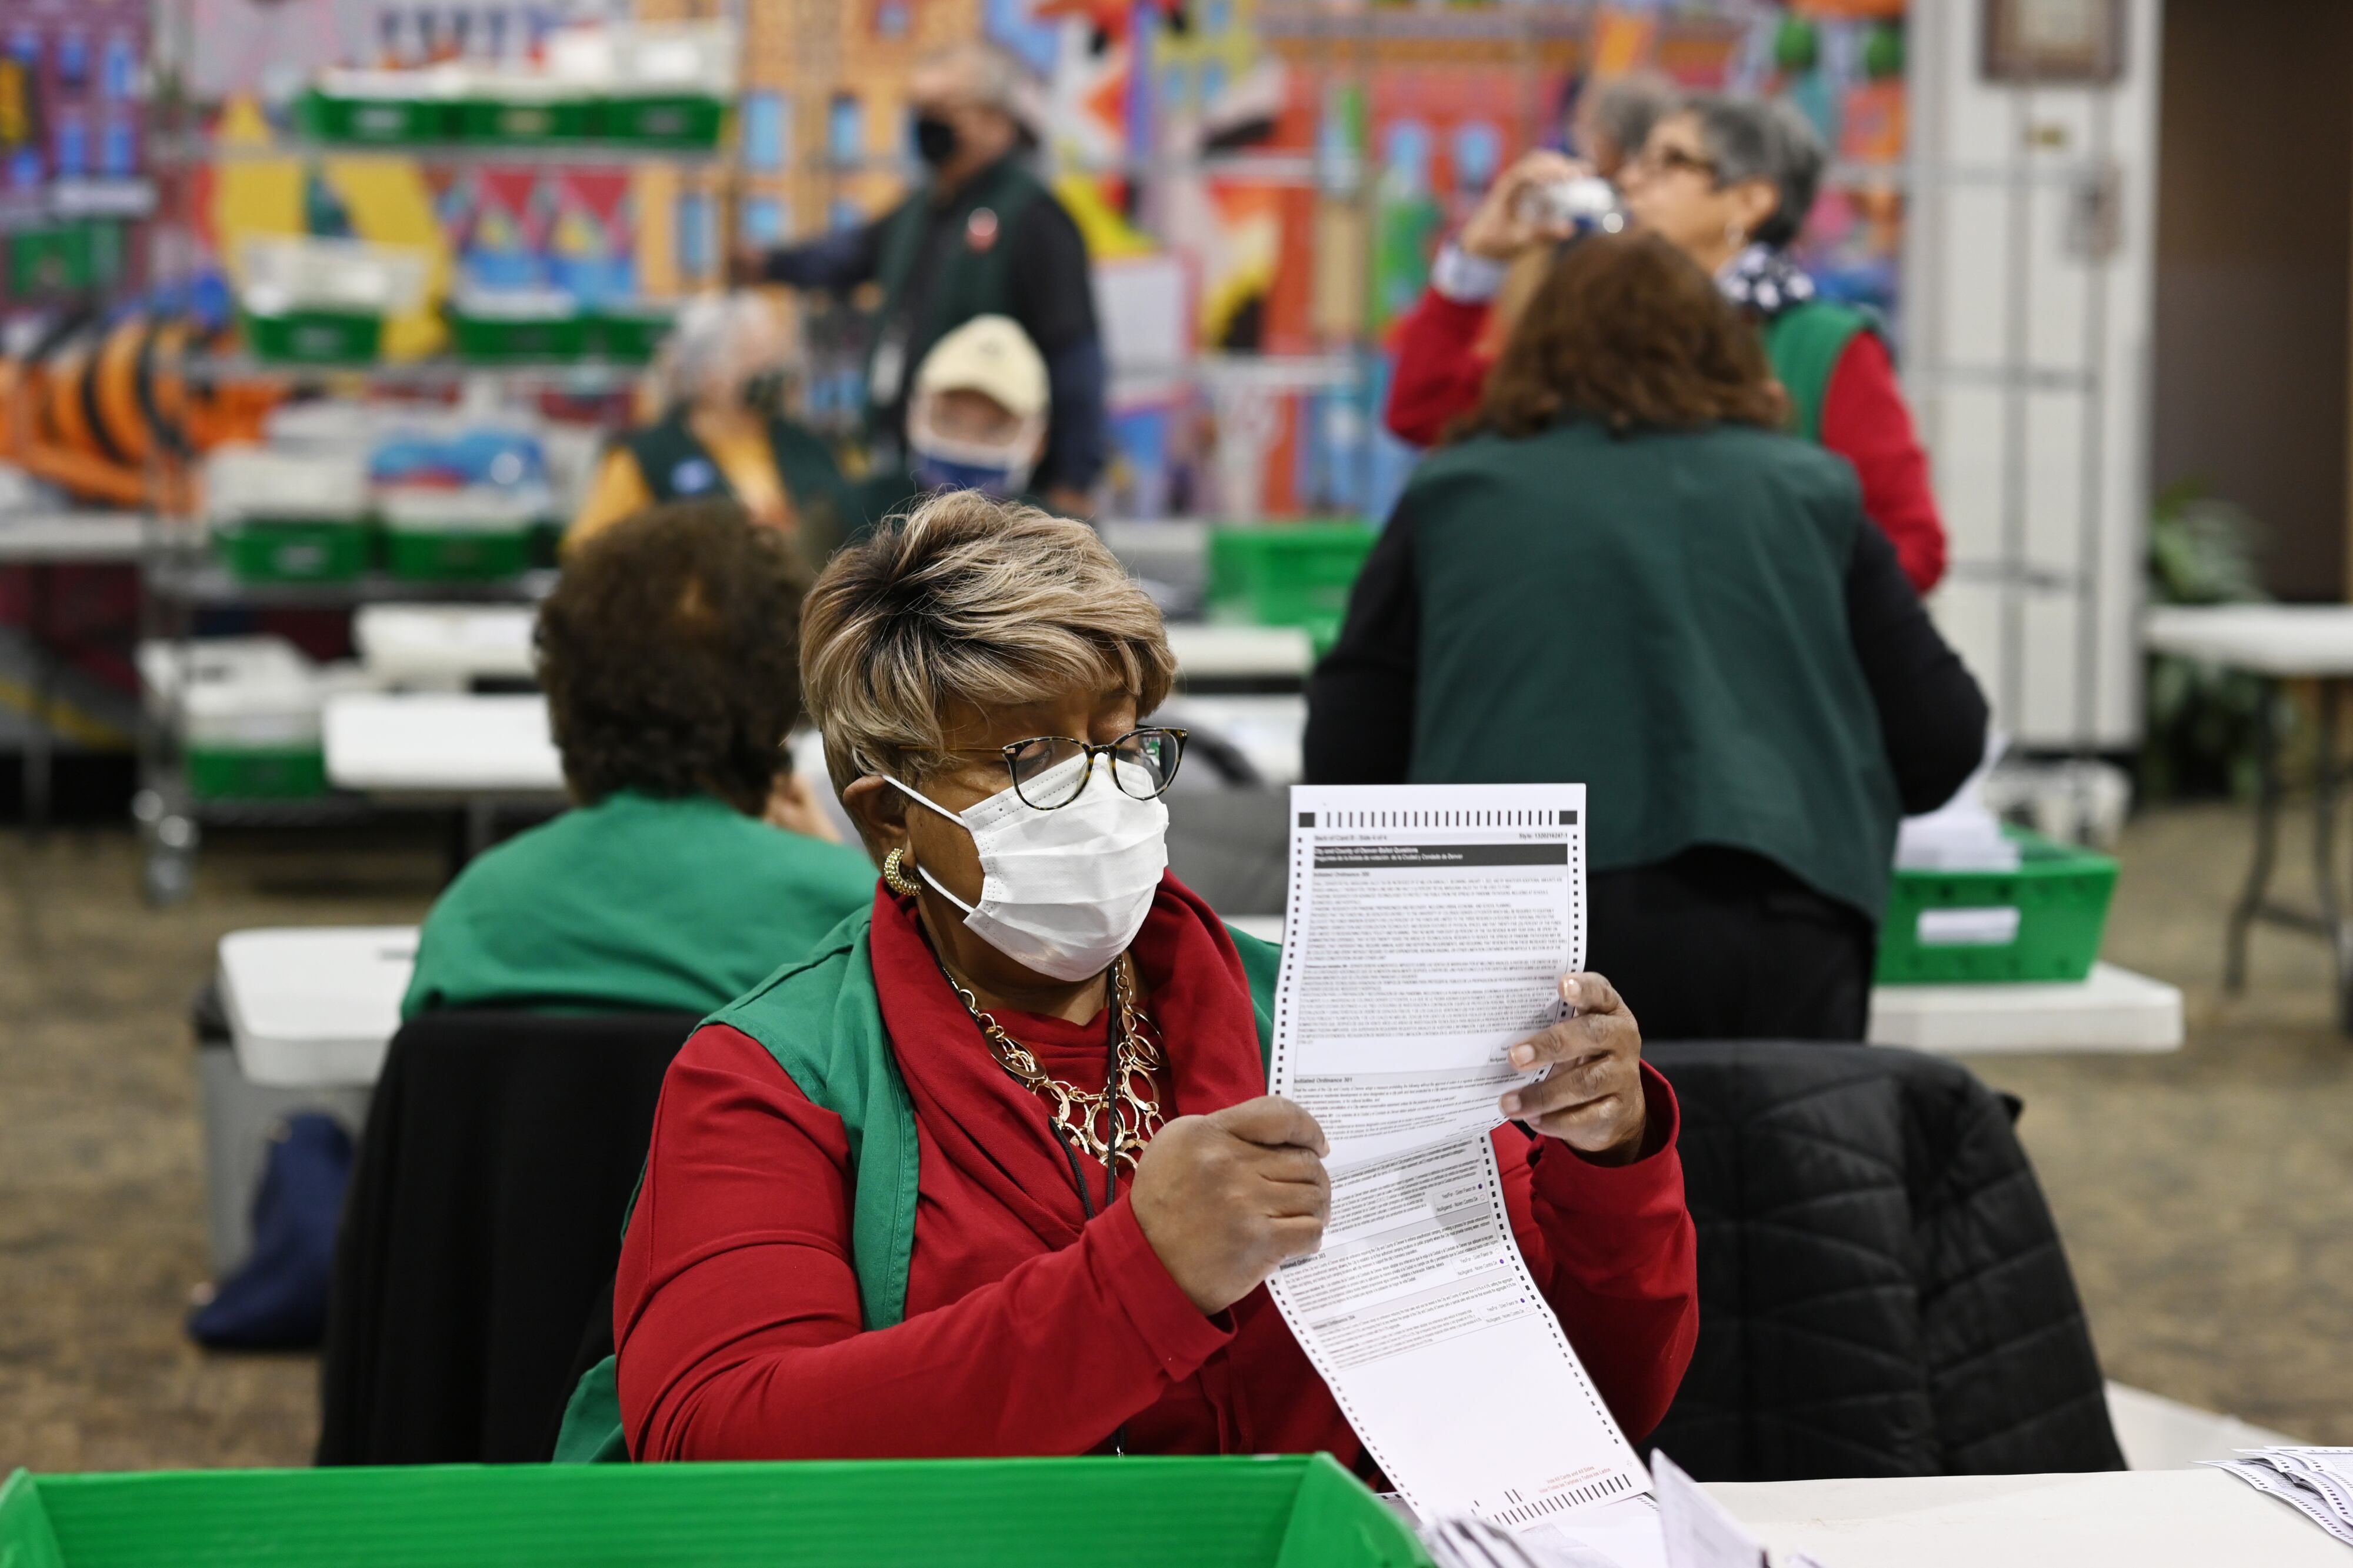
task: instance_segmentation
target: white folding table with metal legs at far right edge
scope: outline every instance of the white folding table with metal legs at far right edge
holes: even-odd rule
[[[2337,961],[2337,1017],[2353,1034],[2353,918],[2337,897],[2337,709],[2353,680],[2353,605],[2167,605],[2141,622],[2151,652],[2242,669],[2264,680],[2257,704],[2259,793],[2254,803],[2254,862],[2231,909],[2224,935],[2224,989],[2247,984],[2247,930],[2285,925],[2329,944]],[[2282,680],[2313,680],[2320,692],[2320,732],[2313,746],[2313,897],[2318,909],[2271,897],[2271,862],[2280,831],[2280,737],[2271,723]]]

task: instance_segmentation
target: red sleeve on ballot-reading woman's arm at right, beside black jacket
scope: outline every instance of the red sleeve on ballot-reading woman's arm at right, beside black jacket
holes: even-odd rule
[[[1527,1163],[1504,1168],[1506,1198],[1529,1184],[1539,1245],[1520,1253],[1560,1316],[1609,1415],[1642,1441],[1682,1384],[1699,1342],[1699,1236],[1682,1203],[1675,1090],[1647,1062],[1649,1154],[1593,1165],[1567,1144],[1527,1140]]]

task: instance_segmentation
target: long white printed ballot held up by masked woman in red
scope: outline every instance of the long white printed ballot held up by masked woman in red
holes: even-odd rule
[[[1417,1514],[1522,1528],[1647,1490],[1511,1234],[1504,1052],[1584,965],[1581,784],[1297,786],[1268,1088],[1332,1140],[1271,1290]]]

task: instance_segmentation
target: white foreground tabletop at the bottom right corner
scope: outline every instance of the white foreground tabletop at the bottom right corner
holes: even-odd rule
[[[2353,1552],[2219,1469],[1715,1481],[1767,1547],[1826,1568],[2346,1568]]]

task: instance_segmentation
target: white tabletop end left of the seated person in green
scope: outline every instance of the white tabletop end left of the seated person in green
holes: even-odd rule
[[[414,968],[414,925],[228,932],[221,1008],[238,1071],[273,1088],[374,1083]]]

